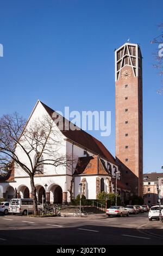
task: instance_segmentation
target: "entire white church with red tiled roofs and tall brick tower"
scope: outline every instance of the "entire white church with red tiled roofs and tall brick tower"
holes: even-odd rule
[[[116,80],[116,157],[102,142],[89,133],[78,130],[60,130],[60,151],[71,155],[71,168],[67,166],[42,166],[34,182],[37,198],[46,202],[67,204],[82,193],[86,199],[97,199],[99,192],[117,192],[122,202],[130,191],[142,194],[142,64],[137,44],[124,44],[115,51]],[[55,111],[38,100],[26,126],[35,119]],[[71,122],[70,122],[71,123]],[[24,161],[26,161],[26,156]],[[42,157],[46,157],[43,155]],[[35,155],[33,156],[35,161]],[[28,164],[28,163],[27,163]],[[117,173],[117,174],[116,174]],[[80,184],[80,186],[79,186]],[[32,197],[30,178],[21,167],[10,170],[5,178],[0,176],[0,198],[10,200],[16,192],[18,198]]]

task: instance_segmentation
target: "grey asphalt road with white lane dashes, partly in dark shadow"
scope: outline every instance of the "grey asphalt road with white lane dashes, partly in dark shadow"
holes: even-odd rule
[[[148,222],[147,214],[102,219],[0,215],[0,245],[162,245],[161,237],[139,229]]]

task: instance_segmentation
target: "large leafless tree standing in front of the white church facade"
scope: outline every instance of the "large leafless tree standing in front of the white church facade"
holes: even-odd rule
[[[43,166],[69,166],[72,161],[59,153],[63,140],[56,126],[48,115],[30,124],[17,113],[0,119],[0,168],[11,168],[14,162],[28,174],[35,215],[38,209],[34,175],[43,173]]]

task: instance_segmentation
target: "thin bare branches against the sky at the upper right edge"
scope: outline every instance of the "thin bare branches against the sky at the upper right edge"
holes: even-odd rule
[[[161,23],[160,25],[158,25],[159,29],[163,28],[163,23]],[[155,59],[155,64],[153,64],[154,68],[159,70],[159,75],[162,76],[163,75],[163,31],[161,32],[161,34],[159,36],[156,36],[156,38],[154,38],[151,41],[151,44],[156,44],[158,45],[158,48],[156,50],[155,53],[153,53],[154,59]],[[163,80],[161,80],[161,83],[163,84]],[[161,94],[163,91],[163,86],[158,89],[158,94]]]

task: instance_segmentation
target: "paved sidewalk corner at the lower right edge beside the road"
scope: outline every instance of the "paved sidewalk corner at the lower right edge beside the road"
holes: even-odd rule
[[[141,225],[137,229],[142,231],[143,233],[163,238],[163,223],[161,223],[160,221],[147,222],[146,224]]]

